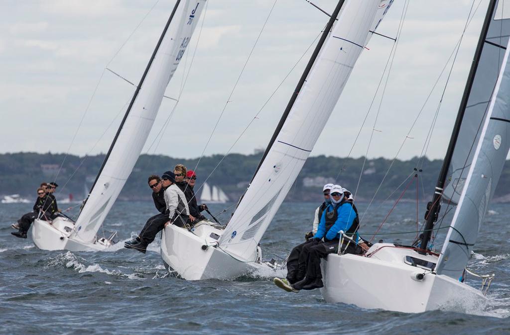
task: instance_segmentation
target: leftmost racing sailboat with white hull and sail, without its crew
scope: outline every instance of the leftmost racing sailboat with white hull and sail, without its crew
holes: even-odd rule
[[[112,244],[113,235],[98,238],[97,231],[133,170],[206,1],[177,0],[78,218],[36,219],[32,238],[37,247],[81,251]]]

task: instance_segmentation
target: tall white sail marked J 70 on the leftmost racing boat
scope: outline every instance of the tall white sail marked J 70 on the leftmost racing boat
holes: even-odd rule
[[[131,174],[205,3],[206,0],[177,0],[177,8],[161,45],[75,224],[73,234],[84,242],[94,241],[97,230]]]

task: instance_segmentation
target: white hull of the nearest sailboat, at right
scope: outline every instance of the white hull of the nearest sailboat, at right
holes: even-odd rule
[[[406,256],[411,256],[437,264],[437,256],[386,243],[374,244],[369,252],[374,250],[377,253],[371,257],[328,255],[321,266],[321,293],[327,302],[404,313],[438,309],[469,313],[484,309],[487,298],[481,291],[404,262]],[[419,274],[424,274],[422,280],[417,278]]]

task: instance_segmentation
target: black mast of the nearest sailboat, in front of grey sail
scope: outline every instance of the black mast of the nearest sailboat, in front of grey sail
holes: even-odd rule
[[[428,210],[428,216],[426,217],[426,224],[423,230],[423,238],[421,240],[420,249],[426,250],[428,242],[430,241],[430,236],[432,235],[432,229],[434,227],[434,222],[439,216],[440,210],[440,201],[443,193],[443,187],[448,177],[448,167],[450,166],[451,159],[453,156],[453,151],[455,149],[455,145],[457,143],[458,134],[461,131],[462,120],[464,118],[464,114],[466,111],[466,106],[468,103],[469,95],[471,93],[471,88],[473,86],[474,77],[476,74],[476,70],[478,68],[478,63],[480,61],[481,52],[483,50],[483,45],[486,42],[487,32],[489,31],[489,25],[492,19],[492,13],[494,12],[494,7],[496,6],[497,0],[491,0],[489,6],[487,8],[487,14],[485,16],[485,20],[483,22],[483,26],[480,32],[480,38],[478,39],[478,45],[476,46],[476,51],[473,57],[473,63],[471,65],[471,69],[469,71],[468,80],[466,83],[466,87],[464,89],[464,94],[461,100],[461,105],[458,109],[457,118],[455,120],[455,124],[453,125],[453,131],[450,137],[450,143],[448,144],[448,149],[446,151],[445,158],[443,160],[443,165],[441,167],[441,172],[438,177],[438,182],[436,184],[436,188],[432,197],[432,202],[430,209]]]

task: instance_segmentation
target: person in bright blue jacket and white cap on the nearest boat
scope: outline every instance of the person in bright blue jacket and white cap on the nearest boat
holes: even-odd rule
[[[340,185],[330,189],[331,204],[322,213],[317,233],[312,238],[310,247],[305,248],[299,257],[298,274],[305,272],[304,278],[294,283],[294,290],[313,290],[323,287],[320,270],[321,258],[338,253],[339,231],[358,241],[359,218],[352,202],[344,196]],[[323,240],[323,241],[322,241]],[[362,248],[357,243],[349,243],[346,253],[358,254]]]

